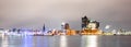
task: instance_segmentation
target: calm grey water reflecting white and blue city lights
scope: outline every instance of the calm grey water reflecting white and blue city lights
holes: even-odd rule
[[[0,36],[0,47],[131,47],[131,36]]]

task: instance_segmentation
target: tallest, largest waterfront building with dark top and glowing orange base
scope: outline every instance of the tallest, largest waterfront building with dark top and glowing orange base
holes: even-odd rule
[[[86,16],[82,17],[82,35],[87,35],[87,34],[100,34],[99,30],[99,22],[88,20]]]

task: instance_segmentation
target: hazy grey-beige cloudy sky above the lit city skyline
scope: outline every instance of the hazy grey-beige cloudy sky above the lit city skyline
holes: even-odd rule
[[[100,22],[100,30],[131,30],[131,0],[0,0],[1,28],[60,30],[67,22],[81,30],[81,17],[86,15]]]

